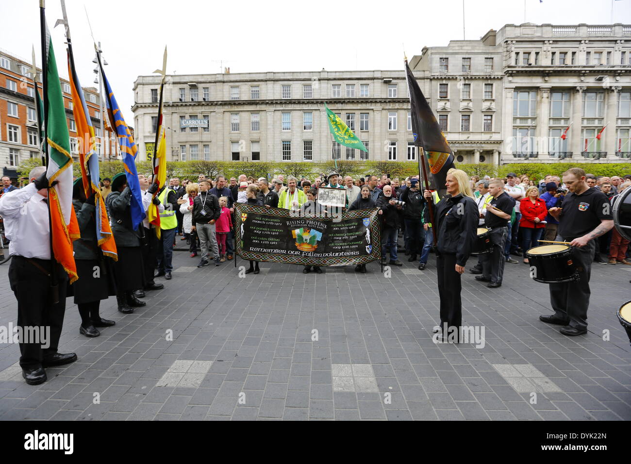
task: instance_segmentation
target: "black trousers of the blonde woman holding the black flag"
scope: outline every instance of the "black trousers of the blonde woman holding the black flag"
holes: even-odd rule
[[[460,274],[456,272],[456,255],[440,254],[436,259],[438,273],[438,292],[440,295],[440,328],[445,339],[450,332],[456,330],[456,340],[459,338],[460,326],[463,324],[463,306],[460,296],[462,285]],[[454,329],[451,329],[454,327]]]

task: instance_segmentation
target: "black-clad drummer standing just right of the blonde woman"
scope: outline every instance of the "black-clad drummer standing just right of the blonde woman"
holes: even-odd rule
[[[488,282],[487,287],[497,289],[502,285],[504,277],[504,246],[508,235],[510,213],[515,207],[515,200],[504,191],[504,182],[495,179],[489,182],[488,192],[492,198],[487,203],[487,214],[484,223],[491,230],[491,253],[480,254],[482,261],[482,275],[476,275],[475,280]]]

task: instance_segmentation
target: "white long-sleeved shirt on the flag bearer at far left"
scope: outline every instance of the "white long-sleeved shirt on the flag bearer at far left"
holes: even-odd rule
[[[0,216],[11,256],[50,259],[48,204],[35,184],[5,193],[0,198]]]

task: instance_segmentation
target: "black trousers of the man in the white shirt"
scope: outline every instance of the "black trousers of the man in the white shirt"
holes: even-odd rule
[[[18,326],[23,330],[37,327],[40,341],[42,337],[48,337],[45,343],[20,343],[20,366],[23,369],[42,366],[42,359],[55,354],[59,347],[66,312],[68,275],[61,265],[54,264],[59,282],[59,302],[53,304],[50,265],[50,260],[13,256],[9,266],[9,284],[18,300]]]

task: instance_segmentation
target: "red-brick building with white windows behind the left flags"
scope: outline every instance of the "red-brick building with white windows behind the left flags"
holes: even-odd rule
[[[59,66],[60,62],[57,65]],[[28,62],[0,51],[0,166],[3,167],[2,175],[8,175],[11,179],[18,177],[17,169],[21,162],[27,158],[42,156],[37,133],[35,84],[31,69],[32,65]],[[40,74],[41,69],[37,69],[37,72]],[[38,81],[38,90],[41,95],[41,80]],[[78,162],[78,135],[74,123],[70,83],[67,80],[61,79],[61,90],[66,107],[71,152],[74,161]],[[83,92],[97,137],[97,152],[102,159],[116,158],[114,138],[110,135],[107,143],[107,138],[101,136],[102,114],[98,91],[93,87],[84,87]],[[112,152],[109,147],[112,148]]]

